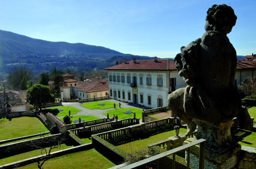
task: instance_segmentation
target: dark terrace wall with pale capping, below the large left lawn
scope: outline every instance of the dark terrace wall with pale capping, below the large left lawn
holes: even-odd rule
[[[0,146],[0,157],[8,157],[17,153],[31,151],[37,149],[35,147],[49,147],[56,143],[56,141],[61,140],[61,134],[50,135],[46,137],[36,138],[32,140],[26,140],[18,143],[12,143],[9,145]]]

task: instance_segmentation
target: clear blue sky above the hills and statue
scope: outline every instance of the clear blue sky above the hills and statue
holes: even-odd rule
[[[256,0],[0,0],[0,29],[134,55],[175,57],[200,38],[208,8],[231,6],[237,55],[256,53]]]

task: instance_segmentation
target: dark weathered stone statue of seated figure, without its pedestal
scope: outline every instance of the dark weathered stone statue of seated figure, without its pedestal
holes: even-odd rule
[[[230,6],[213,5],[207,11],[203,36],[181,48],[174,61],[188,84],[168,96],[167,104],[194,131],[193,119],[209,123],[231,121],[242,110],[235,86],[236,51],[226,34],[236,23]],[[247,120],[248,117],[247,112]]]

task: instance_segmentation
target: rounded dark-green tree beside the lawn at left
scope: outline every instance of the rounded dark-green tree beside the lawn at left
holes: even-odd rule
[[[51,94],[49,86],[35,84],[27,91],[27,98],[31,104],[37,104],[42,110],[42,104],[54,102],[54,95]]]

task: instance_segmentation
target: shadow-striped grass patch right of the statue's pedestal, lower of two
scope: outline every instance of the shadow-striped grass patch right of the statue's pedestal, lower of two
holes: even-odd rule
[[[239,129],[234,135],[234,139],[240,145],[256,148],[256,132]]]

